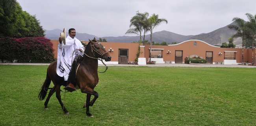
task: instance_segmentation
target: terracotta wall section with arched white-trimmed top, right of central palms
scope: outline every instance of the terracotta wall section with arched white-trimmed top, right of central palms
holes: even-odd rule
[[[194,45],[194,42],[197,42],[197,45]],[[145,46],[145,57],[146,60],[149,58],[149,45]],[[241,48],[220,48],[218,46],[212,46],[208,43],[199,40],[189,40],[184,41],[179,44],[173,44],[169,46],[159,46],[159,45],[152,45],[152,48],[161,48],[163,49],[163,60],[164,61],[175,61],[175,50],[183,50],[183,61],[185,60],[186,56],[190,55],[198,55],[206,58],[206,51],[213,52],[213,62],[216,61],[224,61],[224,51],[237,51],[236,52],[236,60],[237,63],[242,62],[242,49]],[[167,54],[167,50],[171,51],[170,54]],[[222,55],[219,55],[219,52]],[[244,49],[244,62],[249,61],[252,63],[252,49]]]

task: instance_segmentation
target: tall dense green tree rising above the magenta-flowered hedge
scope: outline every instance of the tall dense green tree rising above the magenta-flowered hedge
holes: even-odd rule
[[[0,37],[43,37],[35,15],[22,11],[16,0],[0,0]]]

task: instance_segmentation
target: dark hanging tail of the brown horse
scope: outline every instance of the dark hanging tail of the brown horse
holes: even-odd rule
[[[47,95],[48,88],[50,86],[51,79],[50,76],[48,75],[48,72],[46,73],[46,79],[45,83],[41,87],[41,91],[39,92],[38,98],[39,100],[44,100],[45,96]]]

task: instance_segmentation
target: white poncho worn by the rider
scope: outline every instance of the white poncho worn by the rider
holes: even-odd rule
[[[84,52],[84,46],[76,37],[72,39],[70,36],[67,36],[66,44],[58,43],[57,74],[61,77],[64,76],[65,81],[69,78],[71,63],[74,61],[74,58],[78,55],[83,56],[83,52],[76,49],[82,49]],[[74,52],[74,50],[76,51]]]

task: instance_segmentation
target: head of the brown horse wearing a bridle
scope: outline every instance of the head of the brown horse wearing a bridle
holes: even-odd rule
[[[105,61],[111,60],[111,56],[108,54],[108,52],[102,46],[102,44],[97,42],[96,38],[94,38],[93,40],[89,39],[89,43],[91,45],[91,51],[93,52],[93,56],[95,58],[101,58],[101,59],[104,59]]]

